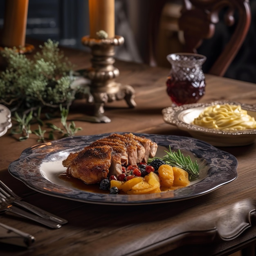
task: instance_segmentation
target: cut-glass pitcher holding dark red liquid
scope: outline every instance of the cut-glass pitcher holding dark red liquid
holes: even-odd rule
[[[202,64],[206,56],[193,53],[167,55],[171,71],[167,77],[167,93],[174,106],[196,103],[205,93]]]

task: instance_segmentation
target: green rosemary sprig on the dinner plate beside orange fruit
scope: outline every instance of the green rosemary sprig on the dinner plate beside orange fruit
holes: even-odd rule
[[[178,149],[177,152],[173,152],[171,146],[169,146],[169,151],[165,150],[165,152],[167,154],[163,157],[163,160],[166,164],[180,167],[187,171],[189,173],[189,180],[193,177],[199,177],[199,165],[196,161],[192,162],[190,156],[185,157],[180,149]]]

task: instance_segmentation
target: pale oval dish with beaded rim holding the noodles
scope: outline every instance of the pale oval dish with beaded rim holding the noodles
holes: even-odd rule
[[[251,106],[235,101],[214,101],[212,103],[186,104],[178,107],[168,107],[162,110],[164,121],[177,126],[180,130],[189,132],[197,139],[202,139],[213,146],[245,146],[254,143],[256,129],[225,131],[209,129],[191,124],[205,108],[213,105],[240,105],[247,110],[247,114],[256,119],[256,106]]]

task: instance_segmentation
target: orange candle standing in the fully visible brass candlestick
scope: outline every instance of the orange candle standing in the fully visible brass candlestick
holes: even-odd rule
[[[89,16],[90,38],[98,38],[100,30],[115,37],[115,0],[89,0]]]

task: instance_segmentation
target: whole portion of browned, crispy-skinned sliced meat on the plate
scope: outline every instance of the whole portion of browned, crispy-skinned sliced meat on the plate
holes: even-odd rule
[[[78,153],[70,153],[63,161],[67,174],[86,184],[96,184],[110,175],[122,173],[122,166],[147,162],[154,157],[157,144],[132,133],[113,133],[98,139]]]

